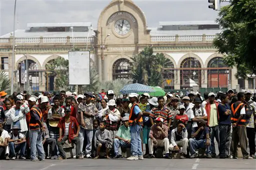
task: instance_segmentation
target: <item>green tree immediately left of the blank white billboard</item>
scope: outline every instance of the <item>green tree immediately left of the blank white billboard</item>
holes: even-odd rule
[[[54,75],[54,90],[68,89],[68,60],[57,57],[45,66],[48,75]]]

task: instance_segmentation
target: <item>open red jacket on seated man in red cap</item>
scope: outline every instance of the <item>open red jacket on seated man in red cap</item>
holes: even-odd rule
[[[71,140],[73,139],[73,135],[76,135],[79,124],[76,118],[72,116],[70,116],[69,120],[70,120],[70,124],[68,129],[68,141],[71,142]],[[63,137],[65,134],[65,117],[60,118],[57,127],[62,129],[62,137]]]

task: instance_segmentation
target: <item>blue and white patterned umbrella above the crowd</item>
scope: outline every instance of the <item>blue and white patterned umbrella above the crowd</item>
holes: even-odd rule
[[[155,92],[151,87],[143,85],[143,84],[127,84],[125,85],[120,92],[122,94],[129,94],[129,93],[150,93]]]

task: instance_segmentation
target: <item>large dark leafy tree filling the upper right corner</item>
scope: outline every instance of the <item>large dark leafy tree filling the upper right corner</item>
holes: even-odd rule
[[[232,0],[223,6],[217,22],[223,31],[213,44],[229,66],[237,67],[237,77],[256,73],[256,0]]]

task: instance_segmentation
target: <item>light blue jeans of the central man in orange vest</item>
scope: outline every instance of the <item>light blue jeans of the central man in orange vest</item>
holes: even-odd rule
[[[143,155],[140,139],[141,125],[130,126],[130,154],[132,156]]]

